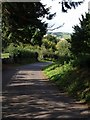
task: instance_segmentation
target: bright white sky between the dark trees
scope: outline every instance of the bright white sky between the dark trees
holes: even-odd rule
[[[48,24],[49,26],[55,24],[54,27],[52,27],[52,29],[65,23],[63,27],[56,29],[53,32],[72,33],[73,32],[72,26],[76,24],[79,25],[79,18],[81,18],[81,15],[82,14],[85,15],[85,12],[88,12],[88,2],[90,0],[85,0],[85,2],[79,5],[76,9],[72,8],[71,10],[68,10],[68,13],[62,13],[61,4],[58,4],[58,2],[60,1],[61,0],[53,0],[53,1],[52,0],[41,0],[43,4],[45,5],[47,4],[47,7],[52,6],[50,10],[52,13],[54,12],[57,13],[56,16],[52,20],[47,20],[46,22],[49,23]],[[76,0],[73,0],[73,1],[76,1]]]

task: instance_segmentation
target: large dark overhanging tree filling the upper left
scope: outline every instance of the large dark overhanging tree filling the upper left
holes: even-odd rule
[[[41,32],[39,34],[41,41],[46,33],[47,23],[39,18],[44,18],[45,15],[49,15],[49,9],[40,2],[2,3],[3,46],[11,42],[30,43],[38,32]]]

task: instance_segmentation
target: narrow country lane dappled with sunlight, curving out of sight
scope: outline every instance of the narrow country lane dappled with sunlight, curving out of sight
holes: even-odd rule
[[[2,75],[2,118],[85,118],[87,105],[77,103],[45,78],[49,62],[20,66]]]

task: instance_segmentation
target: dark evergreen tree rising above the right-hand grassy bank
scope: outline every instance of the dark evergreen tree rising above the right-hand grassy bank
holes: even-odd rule
[[[90,54],[90,14],[82,15],[80,25],[74,26],[71,36],[71,51],[75,56]]]

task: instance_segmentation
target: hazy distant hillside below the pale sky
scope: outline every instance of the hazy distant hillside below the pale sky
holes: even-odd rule
[[[68,39],[71,37],[71,34],[66,32],[48,32],[47,34],[56,35],[59,38],[65,38],[65,39]]]

